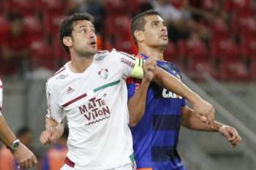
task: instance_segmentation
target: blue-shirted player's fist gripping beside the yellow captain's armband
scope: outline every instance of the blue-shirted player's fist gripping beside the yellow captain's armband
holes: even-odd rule
[[[143,79],[151,82],[153,79],[156,70],[155,68],[157,67],[157,59],[155,58],[148,58],[146,62],[143,64],[143,71],[144,71],[144,77]]]

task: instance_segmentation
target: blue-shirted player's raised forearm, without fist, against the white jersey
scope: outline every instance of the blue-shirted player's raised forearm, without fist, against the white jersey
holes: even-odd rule
[[[150,82],[143,79],[140,88],[128,101],[130,126],[135,126],[144,115],[149,84]]]

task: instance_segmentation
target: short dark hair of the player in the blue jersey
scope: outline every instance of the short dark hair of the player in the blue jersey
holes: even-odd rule
[[[141,12],[138,15],[135,15],[134,18],[132,18],[132,24],[131,24],[131,31],[132,31],[132,38],[135,40],[135,43],[137,45],[137,39],[135,38],[135,31],[144,31],[145,25],[146,25],[146,20],[145,17],[149,15],[159,15],[159,12],[154,11],[152,9],[147,10],[145,12]]]

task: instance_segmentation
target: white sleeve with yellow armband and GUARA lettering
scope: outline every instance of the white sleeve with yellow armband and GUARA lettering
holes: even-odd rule
[[[118,66],[121,66],[121,72],[124,79],[127,77],[143,78],[143,58],[135,58],[134,55],[129,55],[123,52],[117,52]]]

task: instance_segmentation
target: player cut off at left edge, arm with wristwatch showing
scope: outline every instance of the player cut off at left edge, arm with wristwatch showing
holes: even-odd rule
[[[0,79],[0,139],[11,151],[21,169],[28,169],[37,163],[37,158],[23,143],[12,133],[5,121],[2,110],[3,84]]]

